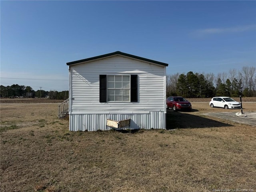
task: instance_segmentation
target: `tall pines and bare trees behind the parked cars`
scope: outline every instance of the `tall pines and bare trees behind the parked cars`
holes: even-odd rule
[[[256,96],[256,68],[242,67],[222,72],[215,76],[213,73],[199,74],[168,74],[166,76],[167,96],[183,96],[186,98],[210,98],[213,96],[238,97]]]

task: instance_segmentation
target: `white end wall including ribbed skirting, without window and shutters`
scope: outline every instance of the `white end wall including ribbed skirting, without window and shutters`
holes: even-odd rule
[[[138,75],[138,102],[99,102],[99,76]],[[112,56],[70,67],[70,130],[108,130],[106,119],[131,118],[130,128],[166,128],[166,68]]]

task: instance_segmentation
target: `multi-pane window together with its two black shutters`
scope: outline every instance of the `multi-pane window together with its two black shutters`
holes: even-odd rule
[[[138,102],[137,75],[100,75],[100,102]]]

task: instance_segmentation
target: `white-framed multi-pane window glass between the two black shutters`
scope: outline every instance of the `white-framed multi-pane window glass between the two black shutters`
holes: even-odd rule
[[[107,76],[108,101],[130,101],[130,76]]]

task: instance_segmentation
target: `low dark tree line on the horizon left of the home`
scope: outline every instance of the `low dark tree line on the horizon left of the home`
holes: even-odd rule
[[[68,98],[68,91],[34,91],[30,86],[13,84],[11,86],[0,86],[1,98],[49,98],[64,100]]]

